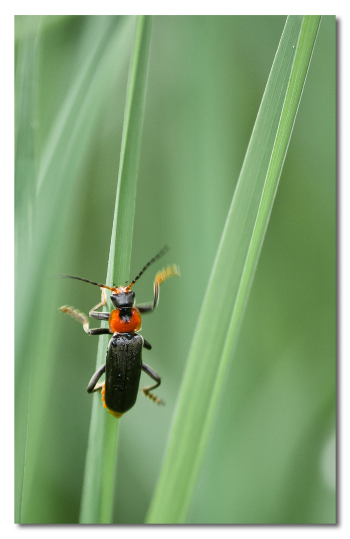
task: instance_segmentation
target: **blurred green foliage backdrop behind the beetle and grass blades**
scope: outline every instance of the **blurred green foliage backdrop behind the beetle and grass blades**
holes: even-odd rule
[[[35,251],[17,260],[19,275],[34,268],[41,282],[27,315],[32,336],[20,349],[24,369],[31,365],[32,388],[23,522],[78,521],[92,406],[86,386],[97,342],[58,307],[69,303],[87,312],[99,291],[54,277],[70,273],[103,281],[106,275],[134,32],[134,20],[121,19],[16,17],[17,73],[24,46],[32,43],[32,117],[16,120],[17,126],[24,121],[32,137],[29,168],[23,169],[36,181],[52,126],[86,59],[89,35],[99,36],[99,26],[102,32],[106,25],[111,50],[106,84],[96,92],[98,114],[96,97],[88,107],[94,123],[77,132],[85,144],[62,192],[51,245],[40,269],[30,260]],[[120,420],[115,522],[144,521],[198,310],[284,22],[279,16],[153,20],[130,279],[164,244],[171,246],[164,264],[179,264],[182,277],[164,284],[158,310],[143,318],[143,335],[153,347],[144,361],[162,376],[159,396],[166,406],[140,395]],[[117,66],[113,39],[120,47]],[[90,78],[93,84],[93,72]],[[79,110],[72,114],[73,132],[80,126]],[[25,172],[23,177],[17,181],[17,209],[32,196]],[[20,217],[22,212],[17,222]],[[138,281],[139,302],[151,298],[156,269]],[[220,306],[213,316],[220,316]],[[18,417],[21,411],[22,404]],[[335,18],[323,17],[188,522],[335,522],[334,437]]]

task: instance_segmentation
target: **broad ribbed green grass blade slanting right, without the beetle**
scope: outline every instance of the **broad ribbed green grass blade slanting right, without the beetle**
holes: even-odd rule
[[[319,16],[290,16],[286,20],[193,337],[148,523],[186,520],[237,342],[319,22]]]

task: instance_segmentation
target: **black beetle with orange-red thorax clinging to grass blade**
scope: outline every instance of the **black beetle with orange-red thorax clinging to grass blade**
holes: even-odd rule
[[[160,377],[151,367],[142,362],[142,348],[151,350],[152,347],[137,332],[141,329],[141,313],[152,312],[158,305],[159,285],[174,275],[180,277],[180,269],[176,264],[173,264],[157,272],[153,283],[153,301],[135,306],[135,293],[130,289],[145,270],[162,257],[167,250],[167,247],[164,247],[127,286],[109,287],[73,275],[62,276],[88,282],[101,288],[101,302],[90,310],[89,316],[97,320],[108,320],[108,328],[89,329],[87,316],[74,307],[65,305],[59,310],[73,316],[80,322],[88,335],[112,334],[107,348],[106,363],[90,379],[87,392],[93,393],[101,390],[103,406],[117,418],[134,406],[142,370],[156,382],[154,385],[142,388],[143,394],[158,404],[164,404],[162,399],[157,398],[151,392],[160,385]],[[110,300],[114,307],[110,313],[97,311],[106,305],[106,289],[111,291]],[[106,373],[106,381],[97,384],[104,373]]]

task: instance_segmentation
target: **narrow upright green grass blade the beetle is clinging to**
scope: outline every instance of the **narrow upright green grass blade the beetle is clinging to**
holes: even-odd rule
[[[106,283],[110,285],[129,279],[151,23],[150,16],[137,17],[106,277]],[[106,361],[108,340],[108,335],[100,336],[96,368]],[[102,407],[100,393],[93,398],[80,523],[107,524],[111,522],[113,510],[119,421]]]

